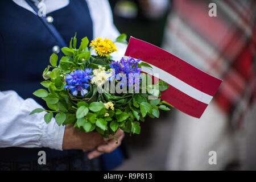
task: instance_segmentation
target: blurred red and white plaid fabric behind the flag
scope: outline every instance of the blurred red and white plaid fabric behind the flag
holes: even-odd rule
[[[217,16],[210,17],[209,3]],[[214,99],[239,128],[255,101],[256,1],[172,1],[163,47],[224,80]]]

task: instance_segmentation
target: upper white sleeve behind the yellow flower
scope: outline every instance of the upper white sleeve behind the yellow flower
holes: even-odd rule
[[[115,40],[119,31],[114,25],[112,10],[107,0],[86,0],[93,22],[93,38],[108,38]],[[124,55],[127,45],[115,43],[118,51],[111,54],[113,60],[120,60]]]

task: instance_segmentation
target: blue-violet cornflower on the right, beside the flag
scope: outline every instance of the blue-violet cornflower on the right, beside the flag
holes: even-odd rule
[[[141,60],[135,60],[132,57],[129,57],[127,60],[122,57],[120,61],[112,61],[110,68],[113,69],[114,74],[112,74],[109,80],[112,81],[113,78],[122,80],[122,77],[126,76],[127,85],[135,85],[135,89],[138,89],[138,84],[141,81],[141,68],[138,68],[139,61]]]

